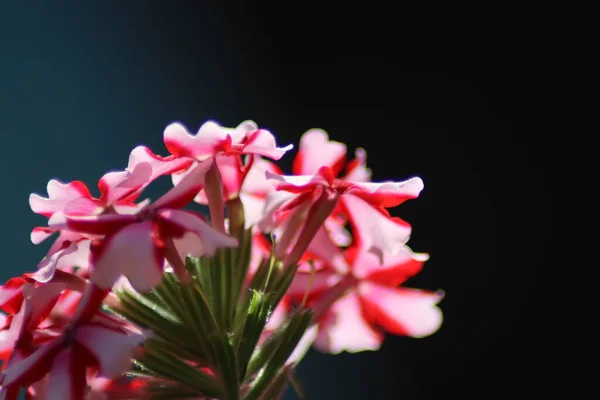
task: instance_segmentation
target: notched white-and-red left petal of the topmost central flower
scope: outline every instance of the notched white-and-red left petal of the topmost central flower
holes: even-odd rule
[[[176,157],[195,158],[203,161],[212,157],[227,137],[227,132],[216,122],[207,121],[196,135],[190,134],[180,123],[173,123],[164,131],[165,146]]]

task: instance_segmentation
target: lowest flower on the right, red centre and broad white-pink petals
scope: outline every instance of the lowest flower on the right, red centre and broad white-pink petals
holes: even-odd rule
[[[427,254],[405,246],[385,257],[384,265],[365,248],[353,246],[345,255],[348,274],[331,267],[312,277],[298,272],[289,290],[296,301],[310,291],[309,304],[319,325],[317,349],[333,354],[377,350],[384,332],[424,337],[438,330],[442,313],[437,304],[443,294],[398,287],[421,270]]]

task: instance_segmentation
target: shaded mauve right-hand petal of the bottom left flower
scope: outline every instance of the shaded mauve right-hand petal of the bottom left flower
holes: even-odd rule
[[[98,324],[88,324],[77,329],[75,339],[94,355],[101,376],[116,378],[129,370],[133,349],[145,340],[145,336],[127,335]]]

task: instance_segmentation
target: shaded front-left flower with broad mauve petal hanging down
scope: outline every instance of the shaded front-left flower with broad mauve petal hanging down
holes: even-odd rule
[[[185,280],[185,257],[237,246],[236,239],[217,232],[200,215],[181,210],[202,187],[206,168],[206,163],[198,164],[177,186],[135,214],[55,213],[50,226],[104,236],[91,250],[90,280],[99,288],[110,289],[124,275],[137,291],[146,292],[161,281],[165,259]]]

